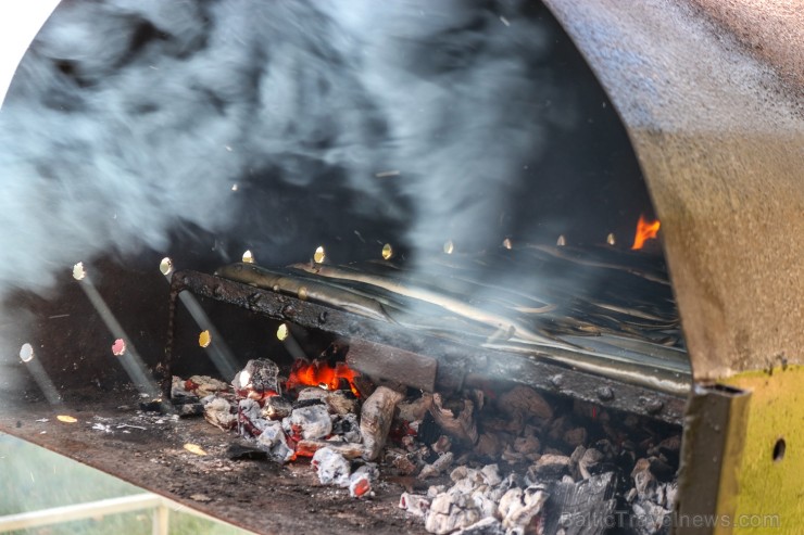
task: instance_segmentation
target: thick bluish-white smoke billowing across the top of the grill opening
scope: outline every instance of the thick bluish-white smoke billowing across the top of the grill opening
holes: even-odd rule
[[[575,120],[543,105],[528,5],[63,2],[0,113],[0,290],[243,219],[268,264],[344,214],[414,249],[499,243],[523,168]]]

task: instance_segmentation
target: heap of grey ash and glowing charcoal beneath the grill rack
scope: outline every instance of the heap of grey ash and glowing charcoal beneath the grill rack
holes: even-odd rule
[[[231,383],[174,377],[172,402],[231,433],[233,459],[310,462],[355,499],[402,484],[429,533],[669,533],[680,428],[514,382],[429,394],[254,359]]]

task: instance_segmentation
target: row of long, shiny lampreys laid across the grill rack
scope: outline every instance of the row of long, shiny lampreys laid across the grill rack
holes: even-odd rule
[[[462,344],[686,392],[688,358],[661,259],[555,249],[415,266],[235,264],[216,275]],[[498,267],[517,263],[529,266],[526,276],[494,280]]]

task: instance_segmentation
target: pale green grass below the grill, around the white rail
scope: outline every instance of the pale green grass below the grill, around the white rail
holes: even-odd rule
[[[45,448],[0,433],[0,517],[86,504],[146,491]],[[152,511],[110,514],[24,531],[12,535],[150,535]],[[172,535],[243,535],[221,522],[171,511]]]

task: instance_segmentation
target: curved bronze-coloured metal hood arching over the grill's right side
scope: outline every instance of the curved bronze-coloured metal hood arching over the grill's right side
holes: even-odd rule
[[[793,13],[748,0],[547,0],[608,92],[709,380],[801,361],[804,118]],[[800,69],[799,69],[800,71]]]

